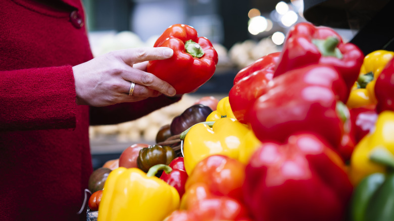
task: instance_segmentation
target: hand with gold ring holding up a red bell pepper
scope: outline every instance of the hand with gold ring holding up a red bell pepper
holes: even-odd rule
[[[167,47],[131,48],[112,51],[73,67],[77,104],[107,106],[156,97],[174,96],[175,89],[155,75],[143,70],[146,62],[169,59]],[[129,96],[131,82],[135,83]]]

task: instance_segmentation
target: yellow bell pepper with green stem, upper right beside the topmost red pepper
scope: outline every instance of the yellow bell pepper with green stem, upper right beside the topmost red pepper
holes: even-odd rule
[[[346,103],[349,108],[377,103],[374,91],[376,79],[393,57],[394,52],[387,50],[376,50],[365,56],[359,79],[352,87]]]

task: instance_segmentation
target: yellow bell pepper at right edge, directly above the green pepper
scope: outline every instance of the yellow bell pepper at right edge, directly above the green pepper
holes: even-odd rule
[[[370,160],[371,153],[382,147],[394,154],[394,112],[391,111],[380,113],[375,131],[367,134],[356,145],[350,164],[350,178],[353,184],[357,185],[370,174],[386,172],[386,167]]]

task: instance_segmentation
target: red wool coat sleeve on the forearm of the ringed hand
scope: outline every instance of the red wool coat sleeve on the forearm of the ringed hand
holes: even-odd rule
[[[0,131],[74,128],[71,66],[0,72]]]

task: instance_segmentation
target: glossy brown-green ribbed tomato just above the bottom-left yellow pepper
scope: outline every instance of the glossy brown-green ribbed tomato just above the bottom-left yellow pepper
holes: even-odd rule
[[[156,164],[170,164],[176,157],[175,151],[170,146],[153,145],[139,150],[137,166],[147,173]]]

